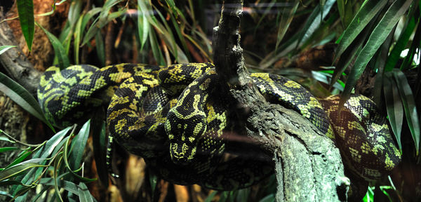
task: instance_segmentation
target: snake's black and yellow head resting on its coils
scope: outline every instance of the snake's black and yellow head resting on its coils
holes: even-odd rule
[[[180,107],[170,109],[165,122],[165,130],[170,140],[171,159],[175,164],[187,165],[194,160],[197,144],[206,131],[206,114],[203,111]],[[187,113],[188,112],[188,113]]]

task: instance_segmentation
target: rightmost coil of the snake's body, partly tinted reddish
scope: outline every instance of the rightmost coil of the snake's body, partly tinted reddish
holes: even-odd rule
[[[401,160],[389,133],[387,120],[375,103],[363,95],[351,95],[338,114],[339,96],[320,100],[335,128],[336,144],[348,168],[366,180],[388,175]]]

